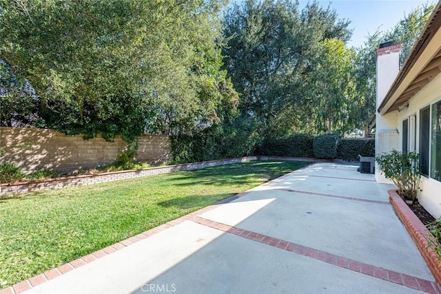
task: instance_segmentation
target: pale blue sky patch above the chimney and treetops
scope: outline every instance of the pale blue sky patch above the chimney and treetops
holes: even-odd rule
[[[338,16],[351,20],[353,28],[352,39],[349,46],[360,46],[365,41],[368,33],[373,34],[379,28],[382,31],[389,30],[408,14],[413,8],[424,3],[435,3],[432,0],[320,0],[322,6],[335,9]],[[304,7],[308,1],[300,0],[300,7]]]

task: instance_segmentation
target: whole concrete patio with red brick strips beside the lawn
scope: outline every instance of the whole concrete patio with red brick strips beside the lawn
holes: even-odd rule
[[[355,165],[317,163],[14,290],[438,293],[389,204],[391,188]]]

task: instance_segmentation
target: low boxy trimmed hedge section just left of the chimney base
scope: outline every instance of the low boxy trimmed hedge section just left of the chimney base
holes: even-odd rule
[[[374,138],[340,138],[337,142],[337,157],[347,161],[359,161],[358,155],[375,156]]]

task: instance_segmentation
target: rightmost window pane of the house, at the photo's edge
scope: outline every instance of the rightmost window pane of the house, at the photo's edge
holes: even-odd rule
[[[432,105],[430,176],[441,182],[441,101]]]

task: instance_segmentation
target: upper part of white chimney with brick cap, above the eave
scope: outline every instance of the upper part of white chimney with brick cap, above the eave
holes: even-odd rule
[[[400,50],[394,41],[381,43],[377,50],[377,109],[400,70]]]

